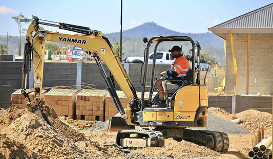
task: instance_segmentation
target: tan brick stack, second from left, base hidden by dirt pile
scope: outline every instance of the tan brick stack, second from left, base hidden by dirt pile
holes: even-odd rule
[[[52,88],[45,95],[45,104],[53,107],[58,116],[76,119],[76,89]]]

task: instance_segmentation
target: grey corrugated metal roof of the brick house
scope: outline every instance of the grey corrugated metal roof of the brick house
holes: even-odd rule
[[[273,3],[208,28],[213,33],[273,33]]]

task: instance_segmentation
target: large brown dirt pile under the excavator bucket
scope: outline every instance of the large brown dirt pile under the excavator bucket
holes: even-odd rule
[[[108,152],[119,152],[114,146],[106,148],[95,140],[87,139],[82,132],[56,118],[54,110],[50,107],[46,109],[48,118],[55,128],[27,109],[9,108],[2,114],[0,134],[9,141],[10,151],[18,145],[24,145],[27,151],[22,151],[22,155],[27,156],[26,158],[94,158],[108,156]]]

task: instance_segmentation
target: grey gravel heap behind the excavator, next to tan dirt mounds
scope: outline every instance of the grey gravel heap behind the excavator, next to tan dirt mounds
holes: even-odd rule
[[[89,128],[87,130],[93,129],[93,130],[102,130],[108,128],[109,121],[106,122],[97,122],[96,128]],[[188,128],[192,130],[211,130],[211,131],[219,131],[219,132],[225,132],[226,134],[251,134],[251,132],[244,127],[224,120],[222,118],[219,118],[212,113],[208,113],[208,126],[207,127],[197,127],[197,128]]]

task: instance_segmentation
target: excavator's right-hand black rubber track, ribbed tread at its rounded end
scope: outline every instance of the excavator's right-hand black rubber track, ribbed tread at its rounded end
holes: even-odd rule
[[[217,131],[199,131],[214,137],[214,149],[217,152],[226,152],[229,147],[229,139],[226,133]]]

